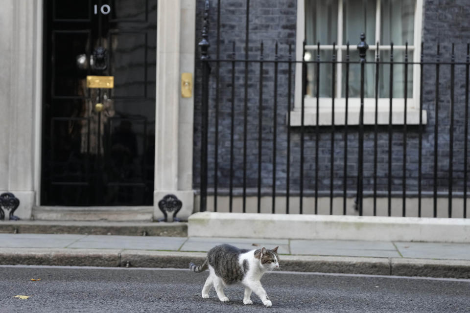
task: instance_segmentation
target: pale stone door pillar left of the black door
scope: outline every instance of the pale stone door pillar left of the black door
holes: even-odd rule
[[[20,199],[15,215],[25,220],[39,194],[42,4],[3,0],[0,7],[0,193]]]

